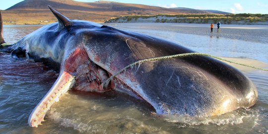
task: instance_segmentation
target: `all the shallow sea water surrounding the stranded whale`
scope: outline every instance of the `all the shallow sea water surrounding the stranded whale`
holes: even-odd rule
[[[236,35],[228,30],[217,35],[209,32],[196,34],[195,29],[205,29],[202,24],[109,25],[164,38],[198,52],[236,58],[268,68],[267,39],[253,39],[254,30],[257,30],[256,33],[266,32],[266,26],[228,25]],[[14,43],[39,27],[4,26],[4,38]],[[187,33],[181,32],[182,29],[188,29]],[[252,38],[245,40],[249,35],[243,33],[247,33],[248,29],[253,32]],[[157,116],[142,102],[126,96],[69,91],[52,106],[42,126],[31,128],[27,124],[30,112],[50,89],[58,74],[32,60],[17,61],[6,53],[0,53],[0,134],[267,134],[268,72],[254,69],[243,71],[259,92],[258,102],[251,109],[239,109],[209,118]]]

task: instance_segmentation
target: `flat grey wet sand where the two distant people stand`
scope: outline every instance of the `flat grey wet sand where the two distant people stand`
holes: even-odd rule
[[[140,27],[147,30],[168,30],[184,34],[212,35],[219,38],[244,40],[268,44],[268,25],[227,25],[222,24],[220,33],[214,25],[213,33],[210,33],[210,24],[186,24],[186,23],[105,23],[119,28]],[[168,26],[168,29],[167,29]]]

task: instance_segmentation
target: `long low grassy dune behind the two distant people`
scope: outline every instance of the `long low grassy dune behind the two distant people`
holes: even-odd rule
[[[178,15],[130,15],[110,19],[113,22],[156,22],[156,23],[217,23],[256,24],[268,23],[268,14],[178,14]]]

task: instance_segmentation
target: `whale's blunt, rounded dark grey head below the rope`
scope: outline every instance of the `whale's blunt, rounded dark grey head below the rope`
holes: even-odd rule
[[[209,67],[180,60],[143,63],[134,91],[157,114],[209,117],[256,104],[257,89],[245,74],[221,62]]]

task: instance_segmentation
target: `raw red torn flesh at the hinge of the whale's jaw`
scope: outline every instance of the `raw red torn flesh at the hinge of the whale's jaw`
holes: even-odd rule
[[[67,58],[64,70],[75,76],[72,90],[102,93],[114,88],[111,82],[103,86],[111,74],[89,59],[84,47],[79,47]]]

